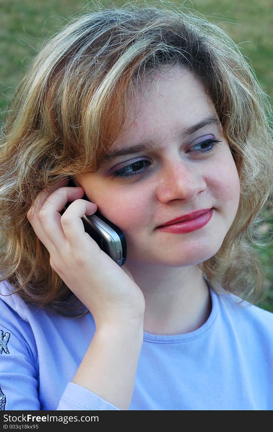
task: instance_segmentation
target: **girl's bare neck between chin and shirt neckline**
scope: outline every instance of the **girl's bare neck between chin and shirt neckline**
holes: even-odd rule
[[[186,334],[209,318],[210,291],[197,265],[162,267],[126,262],[145,299],[144,331]]]

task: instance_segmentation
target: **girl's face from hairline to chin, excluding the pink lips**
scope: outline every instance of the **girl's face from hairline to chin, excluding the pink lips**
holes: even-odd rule
[[[145,96],[130,101],[124,133],[111,152],[144,141],[152,146],[110,159],[97,172],[75,178],[98,211],[124,232],[127,264],[199,264],[219,250],[238,210],[238,172],[214,105],[190,72],[172,72],[171,79],[146,78]],[[209,116],[216,121],[184,134]],[[212,146],[213,140],[220,143]],[[209,208],[210,221],[195,231],[174,234],[156,229]]]

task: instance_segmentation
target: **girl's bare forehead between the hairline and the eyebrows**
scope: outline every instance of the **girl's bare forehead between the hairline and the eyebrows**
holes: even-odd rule
[[[202,118],[217,115],[203,84],[190,71],[168,68],[146,76],[126,96],[123,130],[111,147],[114,150],[128,140],[164,133],[175,137],[176,130],[196,124]]]

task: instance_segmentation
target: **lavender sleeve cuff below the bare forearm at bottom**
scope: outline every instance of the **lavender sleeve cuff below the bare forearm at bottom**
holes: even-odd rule
[[[57,410],[119,410],[86,388],[69,382],[60,398]]]

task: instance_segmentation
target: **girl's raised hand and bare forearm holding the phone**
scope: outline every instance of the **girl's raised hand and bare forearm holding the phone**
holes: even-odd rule
[[[57,409],[70,409],[69,403],[73,409],[85,409],[83,399],[79,403],[76,395],[74,400],[69,397],[69,389],[72,391],[75,384],[75,391],[81,387],[97,395],[100,405],[112,404],[107,409],[115,408],[115,403],[116,409],[126,410],[143,343],[145,299],[130,272],[121,269],[85,232],[81,219],[94,214],[98,206],[80,199],[82,187],[65,184],[67,179],[57,182],[54,192],[51,186],[45,188],[27,213],[36,235],[48,249],[51,267],[89,309],[96,327],[74,381],[65,389]],[[60,215],[67,202],[70,205]]]

